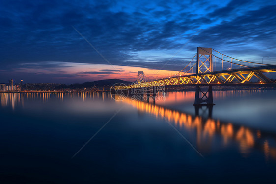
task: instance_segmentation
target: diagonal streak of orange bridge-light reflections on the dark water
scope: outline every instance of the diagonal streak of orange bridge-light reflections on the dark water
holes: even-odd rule
[[[224,147],[227,147],[229,140],[239,143],[240,153],[245,157],[251,152],[252,148],[262,150],[266,159],[271,157],[276,159],[276,147],[270,147],[267,137],[276,139],[276,134],[253,130],[244,126],[233,125],[232,123],[222,123],[212,118],[204,119],[200,116],[192,116],[176,110],[164,108],[142,101],[134,101],[129,98],[123,102],[136,107],[138,111],[153,114],[157,119],[165,119],[178,129],[196,131],[196,143],[199,151],[210,150],[214,144],[214,136],[221,135]],[[207,147],[206,147],[207,146]],[[208,147],[209,146],[209,147]],[[219,146],[219,145],[217,145]]]

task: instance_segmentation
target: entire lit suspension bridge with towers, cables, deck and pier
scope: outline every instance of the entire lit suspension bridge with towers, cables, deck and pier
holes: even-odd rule
[[[217,56],[213,52],[221,56]],[[193,63],[195,57],[196,61]],[[215,63],[213,58],[215,59]],[[214,71],[216,59],[219,63],[222,63],[220,71]],[[232,68],[232,65],[236,68]],[[195,73],[193,73],[193,67],[196,67]],[[146,77],[148,79],[146,81],[144,72],[138,71],[137,82],[135,84],[120,86],[117,89],[189,85],[196,87],[194,105],[214,105],[212,97],[213,85],[276,84],[276,80],[272,80],[266,76],[270,72],[276,72],[276,65],[239,60],[212,48],[197,47],[197,52],[193,59],[175,75],[156,80],[149,80]],[[204,92],[202,86],[208,86],[207,92]]]

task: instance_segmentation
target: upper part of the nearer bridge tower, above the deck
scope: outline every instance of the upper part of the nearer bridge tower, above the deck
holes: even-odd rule
[[[196,74],[212,72],[212,71],[213,71],[212,48],[197,47]]]

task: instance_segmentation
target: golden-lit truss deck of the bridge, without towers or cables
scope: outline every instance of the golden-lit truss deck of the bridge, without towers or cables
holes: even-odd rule
[[[124,88],[142,88],[152,86],[171,86],[171,85],[207,85],[207,84],[275,84],[265,76],[265,73],[276,72],[276,65],[240,68],[200,74],[176,76],[171,78],[148,81],[138,84],[128,85]],[[258,80],[259,82],[252,82]]]

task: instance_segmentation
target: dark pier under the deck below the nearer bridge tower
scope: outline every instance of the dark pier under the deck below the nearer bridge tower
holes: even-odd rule
[[[202,87],[199,85],[195,86],[195,99],[194,106],[206,106],[206,105],[215,105],[213,103],[213,89],[212,85],[208,86],[207,92],[204,92]]]

